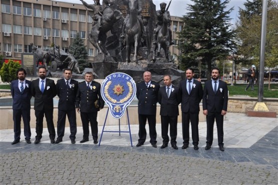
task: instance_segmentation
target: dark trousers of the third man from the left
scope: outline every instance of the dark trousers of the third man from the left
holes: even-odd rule
[[[58,110],[58,121],[57,121],[57,139],[62,139],[65,134],[66,116],[68,115],[71,135],[70,139],[75,139],[77,132],[76,129],[76,110]]]

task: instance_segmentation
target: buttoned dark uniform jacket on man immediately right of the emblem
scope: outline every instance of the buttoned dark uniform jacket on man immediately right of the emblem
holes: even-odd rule
[[[156,115],[156,104],[158,102],[158,83],[151,81],[147,88],[144,81],[136,84],[136,97],[138,99],[138,114]]]

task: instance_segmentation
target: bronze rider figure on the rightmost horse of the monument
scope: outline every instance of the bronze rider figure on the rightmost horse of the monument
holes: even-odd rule
[[[169,8],[169,6],[168,6],[168,8]],[[170,37],[170,45],[174,44],[174,42],[172,40],[172,31],[170,29],[170,20],[171,20],[171,17],[170,17],[170,13],[168,11],[168,8],[166,10],[166,3],[161,3],[160,4],[160,9],[161,10],[156,11],[157,23],[156,23],[156,29],[154,30],[154,35],[153,35],[153,38],[154,38],[153,44],[154,45],[157,44],[157,34],[158,34],[159,30],[161,29],[161,27],[163,25],[163,14],[167,14],[167,16],[168,16],[168,21],[169,21],[168,22],[168,31],[169,31],[169,37]]]

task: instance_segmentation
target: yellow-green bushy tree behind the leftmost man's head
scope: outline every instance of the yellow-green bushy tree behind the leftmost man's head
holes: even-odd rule
[[[3,82],[11,83],[13,80],[17,79],[17,71],[21,68],[19,62],[14,62],[13,60],[9,60],[8,64],[4,63],[0,70],[1,80]]]

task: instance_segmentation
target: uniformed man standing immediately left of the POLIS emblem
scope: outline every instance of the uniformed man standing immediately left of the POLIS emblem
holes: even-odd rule
[[[85,81],[78,85],[76,95],[76,110],[80,111],[83,139],[80,143],[89,141],[89,122],[94,144],[98,143],[98,111],[104,107],[104,100],[101,96],[101,85],[94,81],[92,72],[85,73]]]

